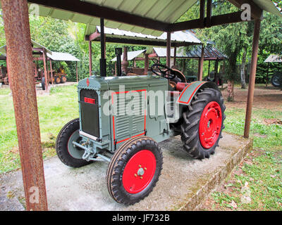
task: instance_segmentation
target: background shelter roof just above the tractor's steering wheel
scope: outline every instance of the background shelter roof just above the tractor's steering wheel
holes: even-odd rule
[[[155,53],[157,53],[158,57],[166,58],[166,49],[164,48],[153,48]],[[201,58],[202,47],[195,46],[193,50],[186,51],[185,48],[178,48],[176,51],[176,58]],[[174,50],[171,49],[171,57],[174,56]],[[207,45],[204,48],[204,59],[205,60],[224,60],[227,56],[221,53],[218,49],[214,48],[214,46]]]

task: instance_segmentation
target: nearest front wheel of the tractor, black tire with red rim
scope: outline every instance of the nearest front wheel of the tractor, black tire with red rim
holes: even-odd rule
[[[116,150],[108,170],[106,183],[118,203],[133,205],[153,190],[161,174],[163,156],[156,141],[138,136]]]

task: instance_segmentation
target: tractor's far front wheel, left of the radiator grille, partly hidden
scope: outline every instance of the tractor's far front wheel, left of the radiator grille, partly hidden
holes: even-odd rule
[[[75,119],[68,122],[60,131],[56,139],[56,153],[63,162],[69,167],[82,167],[91,162],[82,160],[84,150],[73,145],[73,141],[79,143],[80,120]]]

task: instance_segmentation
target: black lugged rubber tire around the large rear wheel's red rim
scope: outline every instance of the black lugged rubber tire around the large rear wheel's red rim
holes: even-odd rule
[[[222,113],[222,123],[219,138],[209,149],[203,148],[200,142],[199,126],[202,112],[206,105],[212,101],[219,103]],[[209,158],[214,154],[214,150],[219,146],[219,139],[222,138],[221,132],[224,129],[223,122],[226,118],[224,115],[226,107],[223,103],[221,92],[216,89],[206,88],[200,90],[192,99],[188,110],[183,113],[183,124],[181,124],[181,140],[184,144],[184,149],[188,155],[195,159]]]

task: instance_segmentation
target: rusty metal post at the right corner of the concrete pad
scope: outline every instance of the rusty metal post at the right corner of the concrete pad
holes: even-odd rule
[[[259,52],[259,31],[260,31],[260,20],[255,20],[254,37],[252,40],[252,63],[250,70],[250,81],[247,92],[247,110],[245,118],[245,130],[244,137],[246,139],[250,136],[250,124],[252,119],[252,103],[254,101],[255,92],[255,77],[257,72],[257,54]]]

